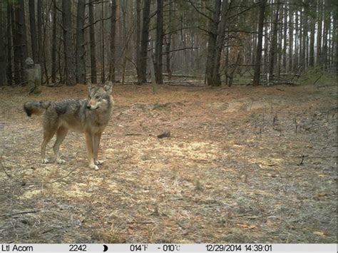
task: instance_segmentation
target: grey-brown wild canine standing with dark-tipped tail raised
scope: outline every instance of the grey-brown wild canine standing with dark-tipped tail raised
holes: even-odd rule
[[[113,108],[111,91],[113,83],[109,82],[104,87],[92,86],[87,83],[88,99],[67,99],[56,102],[30,101],[24,104],[24,110],[30,117],[32,114],[43,116],[43,142],[41,144],[42,162],[46,163],[46,145],[56,133],[53,151],[56,162],[63,163],[60,145],[66,137],[68,130],[83,132],[86,137],[88,162],[91,169],[98,170],[98,147],[104,128],[108,125]]]

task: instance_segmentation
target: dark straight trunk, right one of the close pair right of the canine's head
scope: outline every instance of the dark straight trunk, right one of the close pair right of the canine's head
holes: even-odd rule
[[[157,0],[155,44],[155,76],[156,83],[163,83],[162,52],[163,52],[163,0]]]

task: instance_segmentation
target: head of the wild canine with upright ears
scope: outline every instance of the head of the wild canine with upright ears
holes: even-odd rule
[[[93,86],[91,83],[88,85],[88,110],[107,110],[113,100],[111,98],[111,91],[113,89],[113,83],[110,81],[103,87]]]

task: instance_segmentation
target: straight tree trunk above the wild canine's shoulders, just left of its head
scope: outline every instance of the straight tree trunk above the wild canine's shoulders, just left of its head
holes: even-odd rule
[[[76,17],[76,82],[86,83],[86,60],[84,39],[84,16],[86,0],[78,0],[78,15]]]

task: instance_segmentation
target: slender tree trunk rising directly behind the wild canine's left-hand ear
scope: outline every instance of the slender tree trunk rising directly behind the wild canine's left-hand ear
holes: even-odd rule
[[[95,42],[95,24],[94,24],[94,2],[89,0],[89,40],[91,43],[91,83],[97,83],[96,72],[96,42]]]

